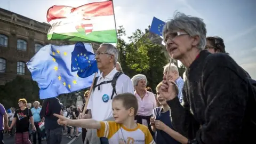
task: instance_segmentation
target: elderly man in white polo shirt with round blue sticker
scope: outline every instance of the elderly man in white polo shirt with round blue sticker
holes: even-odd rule
[[[103,43],[96,52],[96,60],[101,74],[95,78],[88,102],[86,118],[96,121],[113,121],[111,102],[121,93],[134,93],[133,84],[127,75],[117,71],[118,50],[112,44]],[[84,117],[84,116],[83,116]],[[97,137],[97,130],[88,130],[85,143],[97,144],[103,141]]]

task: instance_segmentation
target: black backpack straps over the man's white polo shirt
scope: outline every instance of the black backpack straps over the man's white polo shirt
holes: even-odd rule
[[[93,91],[95,90],[95,88],[96,88],[97,86],[98,86],[98,90],[100,90],[100,85],[102,85],[102,84],[107,84],[107,83],[111,83],[111,85],[112,85],[112,87],[113,87],[111,99],[113,99],[113,96],[114,96],[114,94],[116,93],[116,81],[117,81],[117,78],[118,78],[119,76],[121,76],[122,74],[123,74],[123,73],[121,73],[120,71],[117,71],[111,81],[104,81],[104,82],[101,82],[101,83],[99,83],[99,84],[97,84],[99,77],[98,77],[98,76],[95,77],[94,83],[93,83]],[[116,94],[117,94],[117,93],[116,93]]]

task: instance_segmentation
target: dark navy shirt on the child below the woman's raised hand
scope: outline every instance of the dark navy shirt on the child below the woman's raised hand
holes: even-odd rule
[[[169,126],[171,129],[173,129],[171,117],[170,117],[170,110],[162,113],[162,107],[157,107],[153,111],[153,116],[156,118],[156,120],[163,122],[165,125]],[[155,132],[154,139],[155,139],[156,143],[162,143],[162,144],[169,144],[169,143],[178,144],[178,143],[180,143],[177,140],[173,139],[166,132],[164,132],[162,130],[157,130],[157,129]]]

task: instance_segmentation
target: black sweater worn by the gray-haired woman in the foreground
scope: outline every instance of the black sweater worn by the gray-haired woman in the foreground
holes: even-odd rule
[[[178,97],[167,101],[174,128],[194,143],[254,140],[256,109],[244,70],[227,54],[202,51],[186,72],[183,107]]]

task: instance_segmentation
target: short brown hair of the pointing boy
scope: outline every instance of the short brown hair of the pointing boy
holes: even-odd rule
[[[114,100],[121,100],[123,101],[123,106],[125,109],[134,108],[134,116],[137,115],[138,111],[138,100],[132,93],[122,93],[117,94],[114,98]]]

